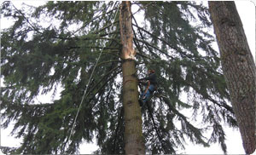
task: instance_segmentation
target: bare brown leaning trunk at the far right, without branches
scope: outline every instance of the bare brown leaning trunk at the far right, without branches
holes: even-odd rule
[[[256,68],[235,2],[209,2],[224,78],[241,132],[244,150],[255,150]]]

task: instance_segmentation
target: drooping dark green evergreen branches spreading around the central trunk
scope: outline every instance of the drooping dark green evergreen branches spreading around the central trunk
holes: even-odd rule
[[[218,142],[226,152],[222,125],[237,125],[219,55],[207,32],[211,26],[207,8],[195,2],[133,2],[131,8],[135,6],[136,13],[144,13],[144,22],[138,23],[137,14],[131,16],[137,51],[137,72],[132,75],[142,78],[152,68],[159,82],[159,90],[141,111],[145,152],[175,153],[184,148],[186,137],[202,146]],[[15,20],[2,33],[2,125],[7,128],[14,121],[12,133],[23,138],[19,148],[3,150],[74,153],[82,141],[95,137],[100,147],[95,153],[125,153],[128,127],[125,86],[120,80],[125,79],[121,68],[125,61],[119,2],[66,1],[27,7],[2,5],[4,17]],[[34,101],[53,89],[55,95],[60,87],[60,99],[44,104]],[[183,95],[188,100],[182,100]],[[199,122],[201,126],[196,126]]]

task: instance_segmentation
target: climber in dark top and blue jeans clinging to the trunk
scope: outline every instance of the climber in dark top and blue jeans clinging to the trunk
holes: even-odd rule
[[[147,83],[143,83],[143,80],[148,80]],[[140,104],[146,103],[148,101],[150,95],[154,93],[154,90],[156,89],[156,75],[154,73],[154,70],[149,69],[148,70],[148,77],[147,78],[141,78],[139,79],[139,83],[143,83],[143,85],[147,85],[147,89],[141,93],[140,96]]]

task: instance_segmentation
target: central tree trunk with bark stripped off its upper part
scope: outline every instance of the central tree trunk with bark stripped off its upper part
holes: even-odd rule
[[[119,24],[122,42],[123,104],[125,109],[125,153],[145,154],[143,121],[138,104],[137,76],[135,67],[136,52],[132,46],[131,2],[124,1],[120,6]]]

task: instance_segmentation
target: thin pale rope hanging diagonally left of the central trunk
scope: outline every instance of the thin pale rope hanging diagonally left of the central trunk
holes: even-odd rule
[[[117,9],[116,14],[118,13],[118,11],[119,11],[119,9]],[[114,15],[113,21],[114,21],[114,19],[115,19],[115,17],[116,17],[116,14]],[[113,28],[113,22],[111,22],[110,30],[112,30],[112,28]],[[108,36],[107,36],[107,37],[108,37]],[[108,37],[108,38],[109,38],[109,37]],[[105,47],[102,48],[102,51],[103,51],[104,48],[105,48]],[[82,103],[83,103],[83,101],[84,101],[84,96],[85,96],[85,94],[87,93],[87,89],[88,89],[88,87],[89,87],[90,80],[91,80],[92,75],[93,75],[93,73],[94,73],[94,71],[95,71],[95,69],[96,69],[96,66],[97,66],[97,64],[98,64],[98,61],[100,60],[100,58],[101,58],[101,56],[102,56],[102,51],[101,51],[101,53],[100,53],[98,59],[96,60],[96,65],[94,66],[94,68],[93,68],[93,70],[92,70],[92,72],[91,72],[91,74],[90,74],[90,78],[89,78],[89,81],[88,81],[88,83],[87,83],[87,87],[86,87],[86,89],[84,90],[84,95],[83,95],[82,100],[81,100],[81,102],[80,102],[79,109],[78,109],[78,112],[77,112],[77,114],[76,114],[76,117],[75,117],[75,119],[74,119],[74,121],[73,121],[73,126],[72,126],[72,129],[71,129],[70,135],[69,135],[69,137],[68,137],[68,139],[67,139],[67,142],[70,140],[70,137],[71,137],[71,135],[73,134],[73,129],[74,129],[75,123],[76,123],[76,121],[77,121],[77,118],[78,118],[78,116],[79,116],[79,111],[80,111],[80,109],[81,109]]]

